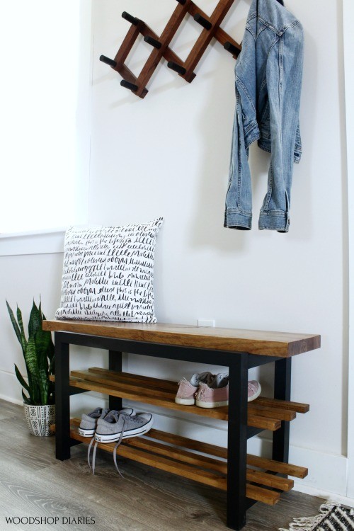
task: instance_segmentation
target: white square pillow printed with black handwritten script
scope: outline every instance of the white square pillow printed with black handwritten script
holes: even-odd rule
[[[156,323],[154,251],[164,218],[65,234],[62,297],[56,319]]]

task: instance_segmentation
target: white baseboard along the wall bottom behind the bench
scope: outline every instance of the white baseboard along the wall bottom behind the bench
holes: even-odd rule
[[[21,386],[16,375],[0,370],[0,389],[5,393],[0,398],[13,404],[22,405]],[[90,411],[97,405],[107,406],[103,395],[96,393],[79,394],[72,397],[71,409],[74,416]],[[176,435],[195,438],[202,442],[226,447],[226,423],[217,419],[199,417],[193,414],[181,414],[178,411],[156,408],[147,404],[124,401],[124,405],[134,406],[138,411],[148,411],[154,415],[154,428],[166,430]],[[249,440],[247,451],[255,455],[271,456],[271,441],[254,437]],[[309,469],[309,475],[295,480],[295,490],[321,498],[331,498],[338,503],[354,506],[353,498],[347,498],[347,461],[343,455],[326,454],[309,448],[290,446],[289,461]]]

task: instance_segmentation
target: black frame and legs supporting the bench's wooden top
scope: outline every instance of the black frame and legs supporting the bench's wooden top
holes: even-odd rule
[[[229,421],[227,459],[227,526],[241,530],[246,523],[246,510],[255,503],[246,498],[247,439],[261,429],[247,426],[248,370],[275,362],[275,392],[278,399],[290,400],[291,358],[226,352],[206,348],[161,345],[87,334],[55,332],[56,457],[70,457],[70,447],[78,441],[70,438],[70,395],[76,388],[69,385],[69,346],[80,345],[109,351],[110,370],[122,370],[122,352],[149,355],[181,361],[224,365],[229,367]],[[83,390],[81,392],[84,392]],[[110,409],[121,409],[122,399],[109,397]],[[289,422],[273,434],[273,459],[287,462],[289,455]]]

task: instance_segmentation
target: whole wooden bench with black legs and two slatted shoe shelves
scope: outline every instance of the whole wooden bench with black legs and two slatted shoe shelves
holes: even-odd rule
[[[125,440],[120,455],[152,467],[227,491],[227,526],[240,530],[246,510],[257,501],[274,505],[292,479],[307,475],[288,464],[290,421],[309,411],[290,401],[293,355],[320,347],[320,336],[175,324],[96,321],[43,321],[55,332],[56,456],[69,459],[70,447],[88,442],[78,433],[79,419],[70,418],[69,396],[96,391],[109,396],[110,409],[122,399],[219,418],[228,423],[228,449],[152,429],[144,437]],[[103,348],[108,370],[89,367],[69,374],[69,346]],[[122,372],[122,353],[222,365],[229,370],[229,406],[202,409],[175,403],[176,382]],[[274,363],[274,398],[260,396],[248,404],[248,370]],[[263,430],[273,432],[273,458],[247,455],[247,440]],[[112,452],[113,444],[99,444]],[[200,453],[196,454],[195,450]],[[280,475],[278,475],[280,474]]]

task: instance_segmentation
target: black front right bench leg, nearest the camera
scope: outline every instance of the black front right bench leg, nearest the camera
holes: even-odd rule
[[[246,524],[247,355],[235,353],[229,365],[229,426],[227,450],[227,527]]]

